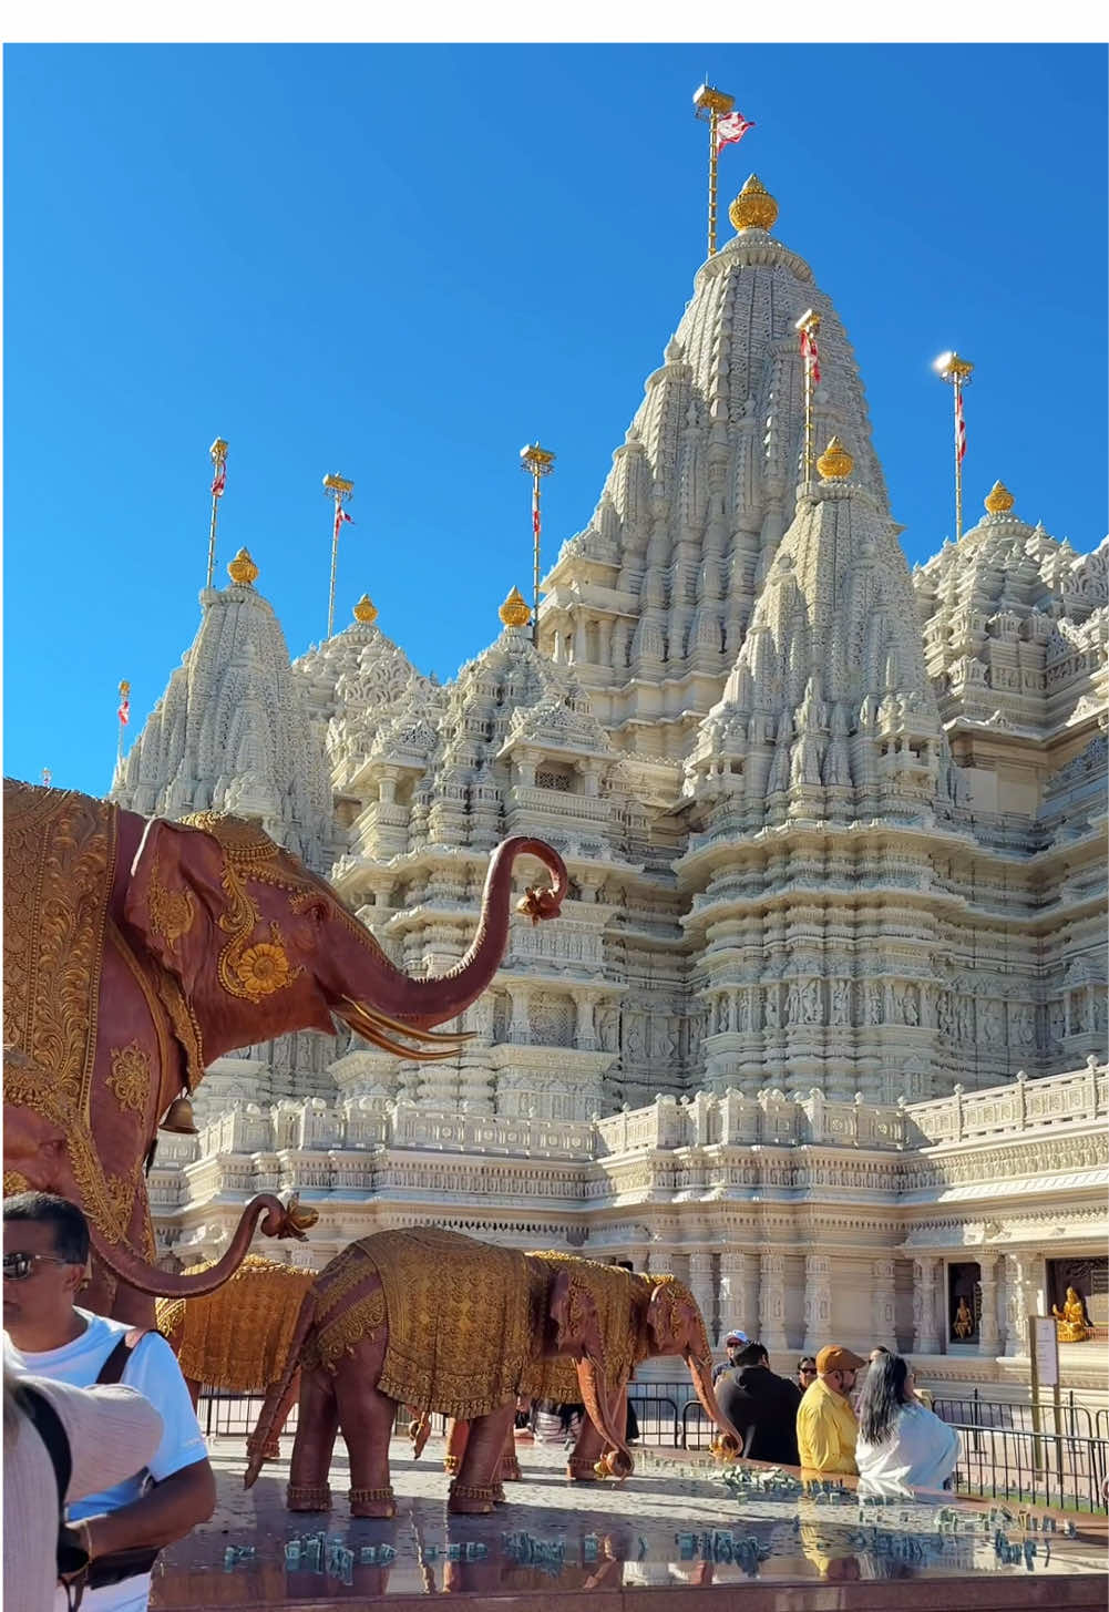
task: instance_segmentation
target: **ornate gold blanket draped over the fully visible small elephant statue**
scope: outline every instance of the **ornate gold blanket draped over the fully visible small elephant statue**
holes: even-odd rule
[[[335,1370],[387,1320],[384,1394],[459,1420],[488,1415],[521,1391],[545,1302],[542,1267],[516,1249],[440,1227],[376,1232],[318,1277],[305,1364]]]

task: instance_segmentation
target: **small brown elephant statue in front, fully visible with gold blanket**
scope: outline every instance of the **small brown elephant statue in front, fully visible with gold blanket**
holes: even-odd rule
[[[608,1419],[601,1322],[580,1270],[435,1227],[376,1232],[332,1259],[305,1299],[285,1373],[247,1444],[245,1485],[261,1470],[300,1369],[290,1510],[330,1510],[327,1472],[342,1428],[351,1517],[392,1517],[388,1441],[398,1406],[411,1406],[469,1423],[448,1509],[490,1512],[503,1498],[498,1465],[521,1381],[556,1356],[575,1362],[575,1391],[603,1440],[630,1459]]]

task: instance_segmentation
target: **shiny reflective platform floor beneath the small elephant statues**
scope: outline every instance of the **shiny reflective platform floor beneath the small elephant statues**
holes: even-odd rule
[[[885,1607],[885,1583],[899,1609],[1104,1607],[1104,1546],[1027,1523],[1016,1506],[856,1498],[735,1498],[708,1469],[664,1457],[640,1459],[622,1486],[569,1485],[559,1449],[522,1446],[522,1481],[492,1517],[447,1517],[442,1443],[419,1462],[395,1441],[392,1522],[347,1514],[347,1464],[335,1460],[330,1515],[292,1515],[284,1506],[290,1441],[243,1491],[242,1440],[213,1443],[216,1515],[166,1551],[152,1607],[292,1607],[353,1612],[379,1597],[463,1596],[471,1607],[516,1601],[527,1612],[551,1604],[569,1612],[587,1597],[598,1612],[625,1609],[635,1591],[651,1612],[690,1588],[745,1612]],[[893,1589],[896,1581],[896,1589]],[[930,1585],[930,1589],[925,1586]],[[858,1586],[849,1589],[848,1586]],[[946,1591],[949,1589],[949,1597]],[[671,1591],[671,1594],[667,1594]],[[877,1599],[875,1599],[877,1594]],[[730,1596],[730,1602],[729,1602]],[[701,1597],[698,1596],[698,1604]]]

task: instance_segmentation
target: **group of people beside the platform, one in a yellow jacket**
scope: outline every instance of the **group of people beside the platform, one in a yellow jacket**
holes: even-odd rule
[[[761,1343],[729,1333],[714,1373],[721,1410],[743,1438],[740,1456],[801,1467],[803,1477],[859,1477],[887,1493],[945,1488],[959,1435],[925,1404],[912,1367],[877,1348],[867,1361],[830,1343],[779,1377]]]

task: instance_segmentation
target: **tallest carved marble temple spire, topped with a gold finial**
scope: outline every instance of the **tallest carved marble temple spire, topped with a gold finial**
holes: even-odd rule
[[[540,645],[575,663],[598,717],[645,764],[688,753],[793,519],[804,390],[793,326],[806,308],[820,314],[817,429],[851,445],[856,485],[887,513],[851,347],[809,266],[769,234],[775,216],[753,176],[732,208],[735,237],[698,271],[646,379],[593,521],[546,579]],[[664,709],[645,687],[661,675]]]

